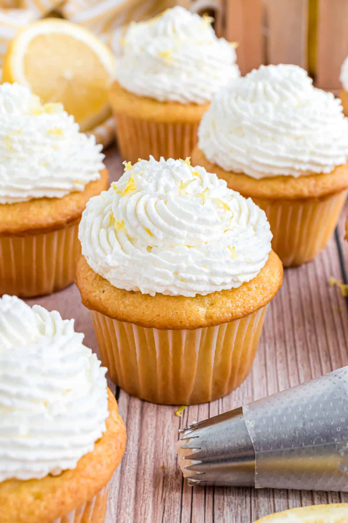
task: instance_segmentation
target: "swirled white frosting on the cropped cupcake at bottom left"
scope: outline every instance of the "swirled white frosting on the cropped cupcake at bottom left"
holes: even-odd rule
[[[105,431],[106,369],[74,320],[0,299],[0,482],[74,469]]]

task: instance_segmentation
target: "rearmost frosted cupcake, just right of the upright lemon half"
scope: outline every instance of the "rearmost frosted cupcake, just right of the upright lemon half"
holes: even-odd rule
[[[183,7],[131,24],[110,90],[125,160],[185,158],[214,93],[239,76],[233,44]]]

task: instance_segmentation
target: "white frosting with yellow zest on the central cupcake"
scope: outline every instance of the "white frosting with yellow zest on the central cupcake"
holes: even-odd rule
[[[91,198],[79,226],[89,266],[117,288],[195,296],[239,287],[271,251],[265,212],[187,160],[141,160]]]

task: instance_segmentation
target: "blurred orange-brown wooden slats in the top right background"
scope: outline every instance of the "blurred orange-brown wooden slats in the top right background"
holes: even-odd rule
[[[267,63],[293,63],[307,68],[321,89],[341,88],[343,60],[348,55],[346,0],[212,0],[218,3],[218,36],[239,42],[242,75]],[[311,9],[308,50],[308,6]]]

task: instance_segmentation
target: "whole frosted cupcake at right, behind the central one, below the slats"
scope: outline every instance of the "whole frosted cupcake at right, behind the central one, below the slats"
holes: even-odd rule
[[[284,266],[326,247],[348,188],[340,101],[296,65],[261,65],[225,86],[203,117],[191,162],[266,211]]]

